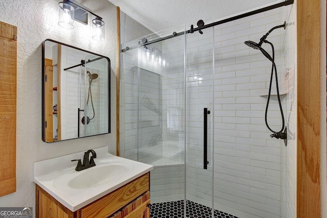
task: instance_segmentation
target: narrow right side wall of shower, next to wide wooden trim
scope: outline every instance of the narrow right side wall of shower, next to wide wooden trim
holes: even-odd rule
[[[281,20],[286,21],[286,34],[282,38],[284,57],[282,67],[285,70],[284,88],[288,93],[286,101],[287,147],[281,151],[281,217],[296,217],[296,7],[283,8]]]

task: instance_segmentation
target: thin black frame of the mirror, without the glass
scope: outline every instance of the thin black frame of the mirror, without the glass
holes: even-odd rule
[[[77,137],[77,138],[69,138],[69,139],[63,139],[63,140],[59,140],[59,141],[53,141],[53,142],[49,142],[49,141],[45,141],[45,42],[46,41],[51,41],[57,44],[61,44],[61,45],[65,45],[67,47],[71,47],[73,49],[76,50],[80,50],[83,52],[87,52],[89,54],[92,55],[97,55],[99,57],[105,58],[108,61],[108,133],[111,133],[111,109],[110,109],[110,80],[111,80],[111,70],[110,70],[110,59],[108,57],[105,57],[103,55],[99,55],[93,52],[89,52],[83,49],[79,49],[78,47],[72,46],[72,45],[68,45],[62,42],[58,42],[52,39],[45,39],[42,42],[42,141],[46,142],[46,143],[54,143],[54,142],[60,142],[60,141],[67,141],[67,140],[72,140],[72,139],[78,139],[78,138],[85,138],[85,137],[90,137],[90,136],[96,136],[96,135],[104,135],[104,134],[108,134],[108,133],[101,133],[101,134],[96,134],[96,135],[90,135],[90,136],[83,136],[83,137]]]

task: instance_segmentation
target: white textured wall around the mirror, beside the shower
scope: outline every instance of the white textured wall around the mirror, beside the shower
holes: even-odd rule
[[[57,25],[59,1],[0,1],[0,20],[18,27],[17,41],[17,191],[0,198],[0,206],[35,208],[33,162],[109,146],[115,154],[116,9],[106,0],[82,2],[84,8],[103,17],[105,41],[91,38],[91,25],[75,22],[73,30]],[[111,134],[57,143],[41,140],[41,43],[54,39],[107,56],[111,60]]]

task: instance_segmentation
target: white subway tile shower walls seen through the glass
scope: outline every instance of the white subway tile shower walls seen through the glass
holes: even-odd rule
[[[157,43],[165,55],[165,67],[141,70],[135,66],[150,66],[137,59],[138,51],[123,54],[121,154],[156,165],[151,173],[153,202],[182,200],[186,192],[190,201],[211,207],[214,199],[215,209],[242,218],[296,217],[294,11],[294,7],[283,7],[205,29],[202,35],[187,34],[186,50],[184,36]],[[265,125],[272,64],[259,50],[244,44],[258,42],[284,20],[289,23],[287,29],[274,30],[267,39],[275,49],[279,92],[290,130],[287,147],[282,140],[270,138]],[[132,28],[141,27],[133,22],[122,28],[138,33]],[[132,37],[128,31],[125,42],[127,35]],[[124,46],[133,44],[137,40]],[[270,46],[263,47],[271,53]],[[142,79],[137,81],[138,74]],[[274,80],[272,87],[275,94]],[[137,91],[143,95],[137,96]],[[161,114],[155,112],[157,107],[143,111],[142,99],[161,107]],[[211,110],[208,169],[203,169],[204,107]],[[273,130],[281,130],[276,96],[271,96],[267,120]],[[186,172],[179,165],[184,162],[184,138]],[[143,148],[137,147],[137,140]]]

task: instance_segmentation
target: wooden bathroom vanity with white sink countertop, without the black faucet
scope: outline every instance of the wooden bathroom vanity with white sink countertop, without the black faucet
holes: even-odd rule
[[[36,217],[150,217],[153,166],[105,150],[95,149],[96,166],[80,172],[71,160],[83,152],[34,163]]]

